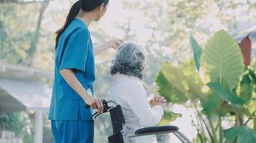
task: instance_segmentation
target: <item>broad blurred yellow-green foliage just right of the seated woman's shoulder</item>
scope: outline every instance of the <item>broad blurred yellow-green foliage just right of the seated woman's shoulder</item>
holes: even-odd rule
[[[185,67],[186,69],[184,69]],[[173,66],[172,64],[165,62],[158,75],[157,84],[160,86],[160,91],[165,90],[165,92],[171,91],[177,93],[170,95],[177,95],[175,97],[176,99],[180,99],[178,94],[182,93],[180,96],[183,97],[183,99],[180,99],[180,102],[185,102],[187,99],[193,101],[194,99],[204,96],[201,92],[202,84],[190,61],[184,62],[183,64],[180,64],[180,66]]]

